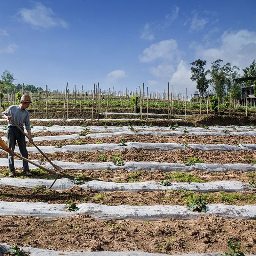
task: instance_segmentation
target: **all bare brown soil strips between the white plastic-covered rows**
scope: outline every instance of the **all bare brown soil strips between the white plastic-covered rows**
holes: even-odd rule
[[[212,117],[213,116],[213,117]],[[205,119],[206,118],[206,119]],[[208,118],[208,119],[207,119]],[[221,116],[222,125],[228,124],[253,124],[251,117],[247,120],[244,117],[226,119]],[[223,119],[224,118],[224,119]],[[194,121],[182,121],[180,125],[191,125],[194,123],[204,123],[214,125],[218,123],[220,117],[215,115],[194,117]],[[223,121],[224,120],[224,121]],[[225,122],[227,120],[227,122]],[[148,121],[138,120],[134,124],[146,124]],[[229,122],[229,123],[228,123]],[[237,122],[237,123],[235,123]],[[119,121],[33,121],[34,125],[127,125],[133,123]],[[177,122],[168,122],[166,120],[153,120],[153,125],[175,124]],[[133,124],[133,125],[134,125]],[[3,133],[4,134],[4,133]],[[52,136],[64,135],[71,133],[36,133],[35,136]],[[5,136],[2,135],[2,136]],[[88,137],[79,140],[63,140],[62,145],[67,144],[92,144],[96,142],[119,143],[121,139],[140,142],[164,142],[164,143],[197,143],[197,144],[229,144],[236,145],[239,143],[256,144],[255,137],[232,137],[232,136],[178,136],[178,137],[160,137],[160,136],[122,136],[103,138],[100,140]],[[37,145],[56,146],[56,141],[36,142]],[[31,146],[30,144],[27,144]],[[197,151],[188,149],[187,151],[152,151],[152,150],[127,150],[123,151],[95,151],[95,152],[74,152],[62,153],[56,152],[47,154],[52,160],[72,161],[72,162],[99,162],[104,155],[106,160],[113,161],[113,157],[120,155],[123,161],[156,161],[156,162],[174,162],[185,163],[189,157],[198,156],[205,163],[247,163],[253,164],[256,159],[254,151]],[[0,152],[0,158],[7,157],[7,153]],[[29,153],[30,159],[37,159],[46,162],[40,154]],[[104,157],[103,157],[104,158]],[[0,167],[0,177],[7,177],[7,167]],[[17,177],[25,178],[17,168]],[[42,172],[39,169],[31,170],[32,178],[53,179],[52,175]],[[256,172],[226,172],[210,173],[194,171],[182,175],[174,176],[172,173],[162,171],[137,171],[128,172],[120,171],[92,171],[92,170],[64,170],[61,177],[79,178],[80,183],[89,180],[102,180],[114,182],[140,182],[156,181],[161,183],[164,179],[170,182],[192,182],[197,179],[199,182],[210,182],[218,180],[236,180],[246,184],[249,182],[256,183]],[[179,204],[186,205],[187,199],[192,192],[182,191],[156,191],[156,192],[122,192],[114,191],[108,193],[99,193],[97,191],[82,188],[70,188],[66,191],[45,190],[44,188],[24,189],[0,187],[0,200],[2,201],[26,201],[40,202],[44,201],[49,204],[65,204],[69,199],[74,203],[97,203],[108,205],[159,205],[159,204]],[[199,193],[196,193],[200,195]],[[255,191],[237,192],[237,193],[209,193],[201,194],[205,203],[222,203],[247,205],[256,204]],[[18,246],[32,246],[42,249],[53,249],[60,251],[143,251],[152,253],[166,254],[183,254],[183,253],[209,253],[229,250],[227,242],[229,238],[239,241],[242,244],[242,251],[248,250],[248,253],[256,253],[256,229],[255,220],[228,220],[216,216],[199,217],[197,220],[172,220],[165,219],[160,221],[133,221],[133,220],[97,220],[87,215],[79,215],[70,218],[57,218],[52,221],[43,220],[36,217],[21,216],[0,216],[0,243],[8,243]],[[146,243],[145,243],[146,241]],[[247,252],[246,252],[247,253]]]

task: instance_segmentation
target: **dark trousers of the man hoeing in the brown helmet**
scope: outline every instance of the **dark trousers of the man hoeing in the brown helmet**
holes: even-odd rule
[[[7,145],[9,148],[11,148],[13,151],[15,149],[16,141],[18,142],[18,146],[20,149],[20,154],[23,157],[28,158],[28,150],[26,148],[26,140],[24,134],[20,132],[20,130],[16,126],[10,126],[7,129]],[[28,168],[28,162],[22,160],[23,164],[23,172],[26,172],[29,170]],[[15,171],[14,167],[14,161],[13,156],[8,155],[8,166],[10,171]]]

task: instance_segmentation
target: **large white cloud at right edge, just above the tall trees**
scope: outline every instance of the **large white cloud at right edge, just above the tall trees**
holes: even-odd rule
[[[207,60],[209,65],[217,59],[223,63],[230,62],[239,68],[245,68],[255,59],[255,31],[247,29],[237,32],[226,31],[220,37],[218,47],[207,48],[202,45],[192,46],[196,49],[196,58]]]

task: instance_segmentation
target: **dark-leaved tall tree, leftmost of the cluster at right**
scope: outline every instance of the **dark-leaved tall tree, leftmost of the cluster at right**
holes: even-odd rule
[[[209,80],[206,79],[207,71],[204,71],[206,60],[198,59],[190,63],[190,65],[195,66],[190,69],[193,73],[190,79],[196,81],[196,88],[200,91],[200,94],[203,95],[209,86]]]

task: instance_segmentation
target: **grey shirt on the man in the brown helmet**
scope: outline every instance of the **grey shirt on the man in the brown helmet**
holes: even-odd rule
[[[26,130],[31,130],[30,127],[30,120],[29,120],[29,113],[28,110],[21,110],[18,105],[12,105],[7,108],[4,112],[6,116],[12,116],[13,120],[23,129],[24,124],[26,126]],[[9,120],[9,126],[15,126],[11,120]]]

